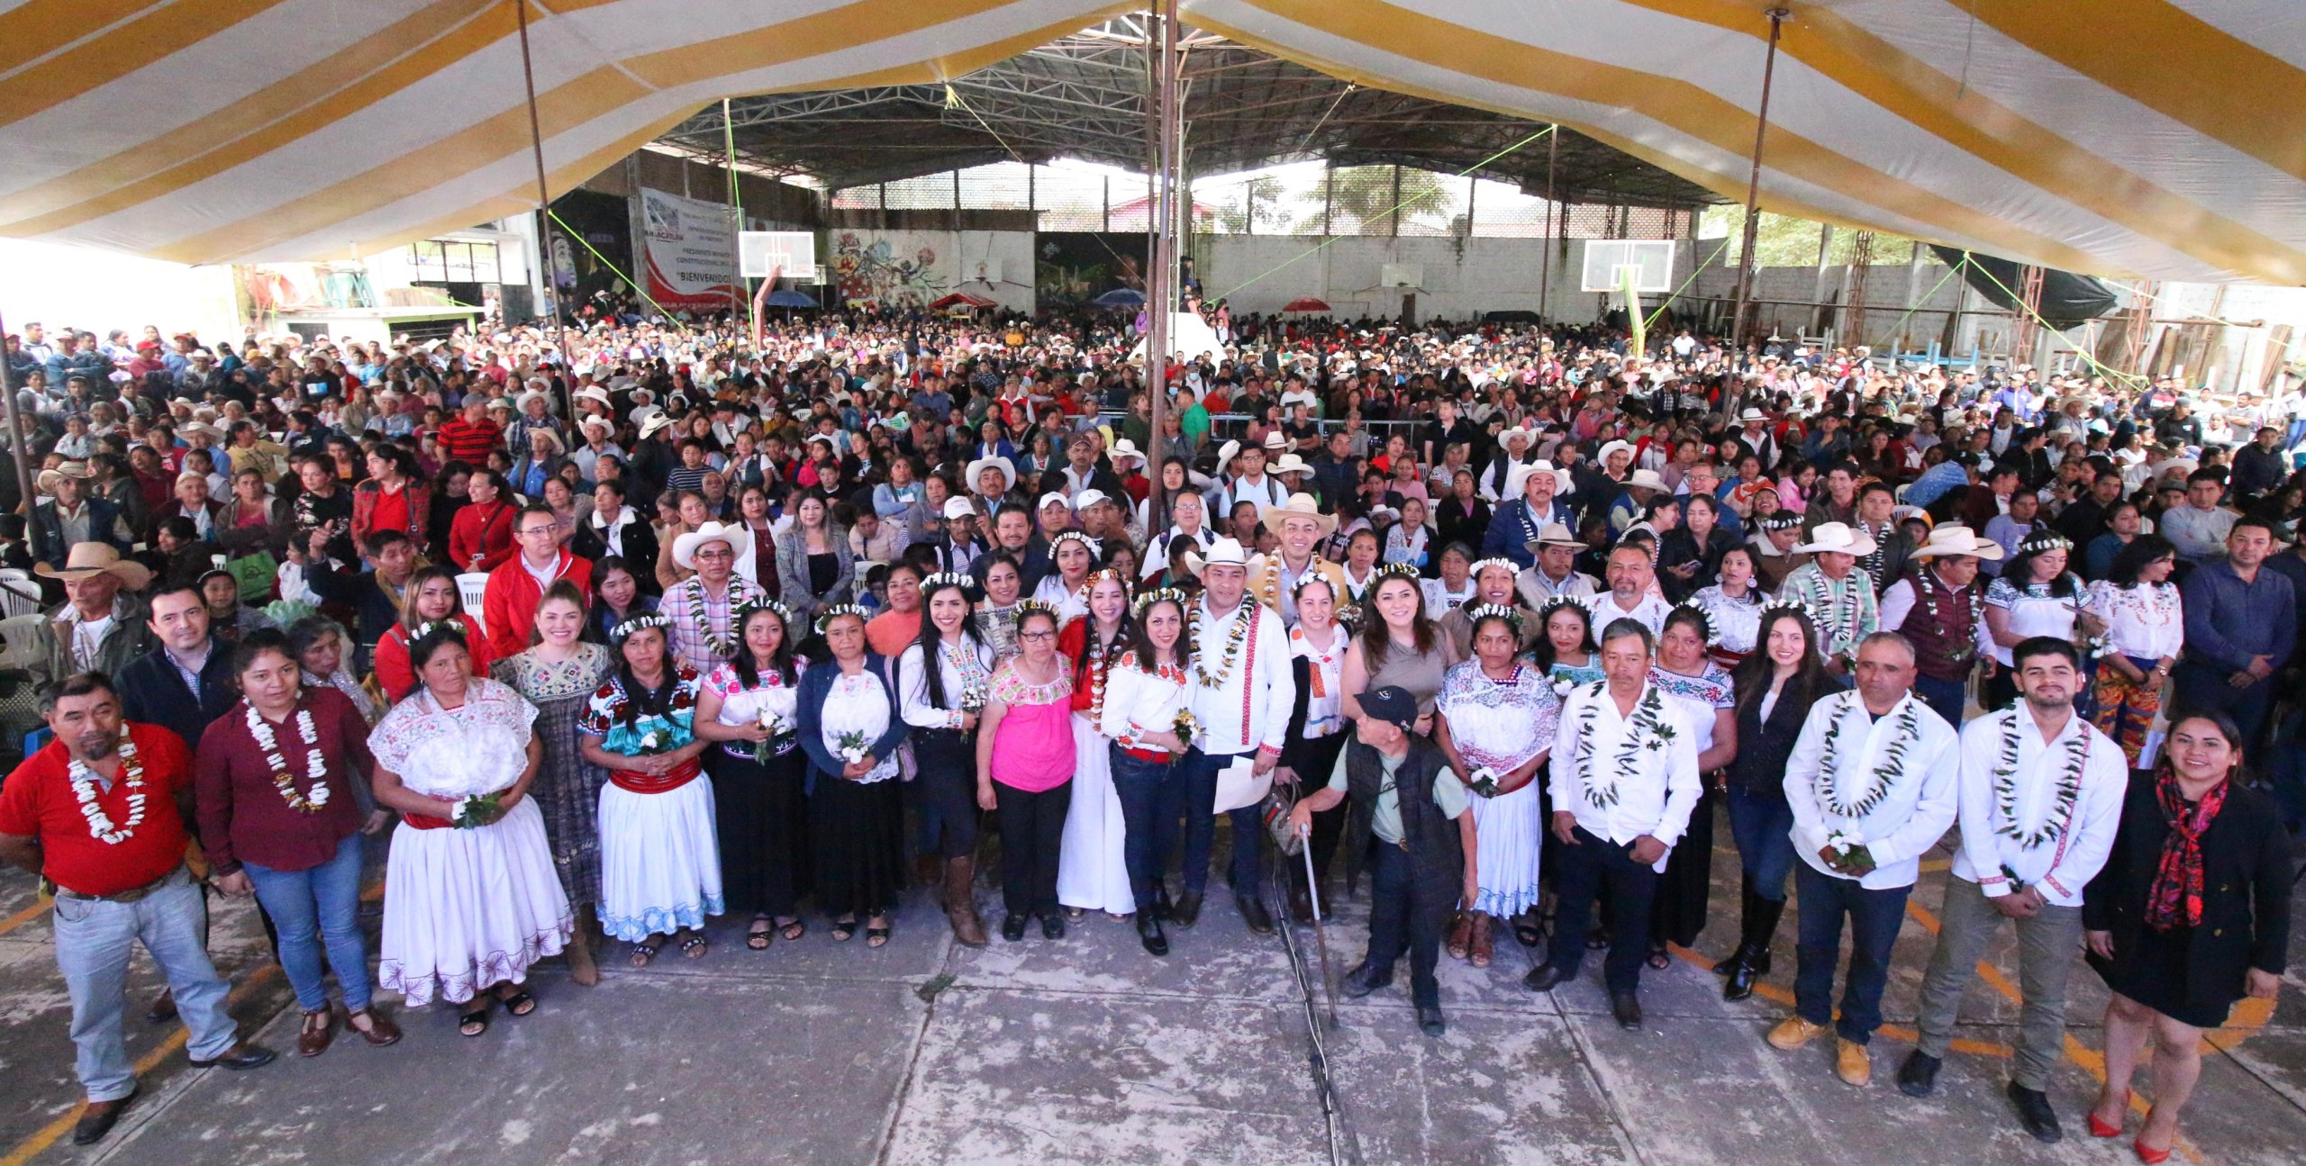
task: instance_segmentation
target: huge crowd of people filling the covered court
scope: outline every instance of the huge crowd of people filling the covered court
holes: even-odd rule
[[[1215,323],[1224,359],[1153,378],[1125,323],[1063,318],[9,336],[37,477],[0,472],[0,560],[55,606],[0,857],[55,892],[76,1138],[136,1090],[131,940],[194,1065],[272,1060],[224,1014],[205,887],[256,896],[321,1055],[399,1039],[376,991],[480,1037],[540,961],[706,959],[722,915],[752,952],[869,949],[925,887],[987,945],[987,853],[1003,942],[1105,913],[1169,956],[1224,818],[1243,926],[1367,894],[1342,991],[1407,961],[1427,1035],[1439,961],[1506,936],[1531,991],[1600,952],[1640,1028],[1644,970],[1711,924],[1750,998],[1799,901],[1766,1042],[1831,1032],[1852,1085],[1946,846],[1898,1088],[1932,1092],[2011,919],[2022,1127],[2062,1136],[2087,961],[2089,1131],[2124,1131],[2151,1042],[2135,1148],[2170,1152],[2200,1032],[2285,968],[2306,399]]]

